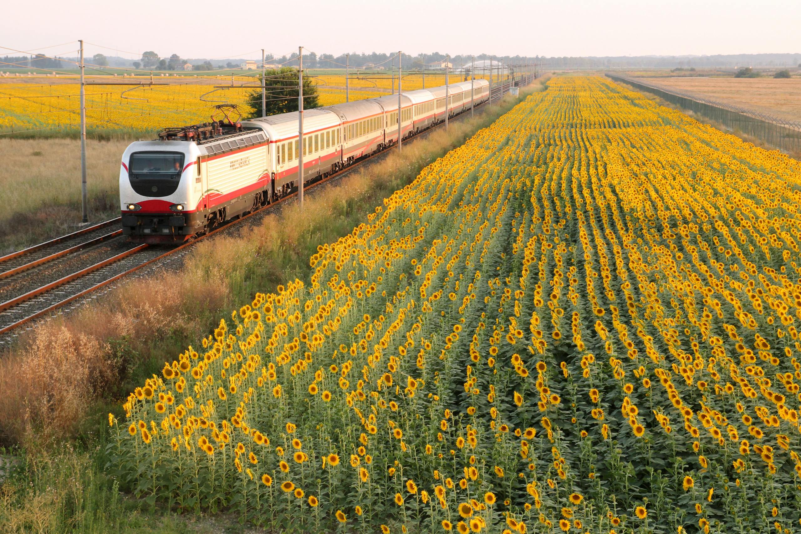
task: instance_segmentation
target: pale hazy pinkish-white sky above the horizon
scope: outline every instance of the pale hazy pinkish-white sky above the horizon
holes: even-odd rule
[[[28,51],[83,38],[111,48],[87,44],[89,57],[155,50],[260,58],[261,48],[280,56],[299,45],[335,55],[801,52],[801,0],[38,0],[7,2],[2,14],[0,46]],[[76,48],[36,51],[71,55]],[[0,49],[5,54],[14,52]]]

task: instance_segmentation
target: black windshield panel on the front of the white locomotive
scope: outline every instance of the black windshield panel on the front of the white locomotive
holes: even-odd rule
[[[139,195],[162,197],[178,189],[183,171],[180,152],[137,152],[131,155],[128,178]]]

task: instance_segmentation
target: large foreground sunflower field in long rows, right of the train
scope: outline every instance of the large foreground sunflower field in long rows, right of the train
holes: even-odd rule
[[[109,470],[292,532],[801,532],[799,177],[553,78],[137,387]]]

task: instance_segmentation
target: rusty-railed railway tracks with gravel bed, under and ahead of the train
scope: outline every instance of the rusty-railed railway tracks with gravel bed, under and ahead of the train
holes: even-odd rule
[[[476,109],[482,106],[485,104],[476,106]],[[468,115],[468,111],[465,110],[453,119]],[[442,123],[424,130],[408,141],[425,137],[441,125]],[[377,152],[360,160],[356,165],[323,179],[317,179],[304,187],[304,190],[308,191],[329,180],[347,175],[364,163],[381,155],[387,155],[391,150],[392,148]],[[0,345],[7,343],[10,331],[130,275],[142,267],[191,247],[199,240],[225,230],[231,224],[262,214],[280,203],[295,198],[296,195],[297,191],[293,191],[259,210],[168,250],[159,246],[127,243],[122,231],[115,229],[115,224],[119,224],[120,220],[117,218],[0,257]]]

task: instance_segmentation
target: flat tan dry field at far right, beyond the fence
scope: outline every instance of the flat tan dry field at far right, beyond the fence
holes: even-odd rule
[[[657,83],[777,117],[801,120],[801,78],[659,78]]]

